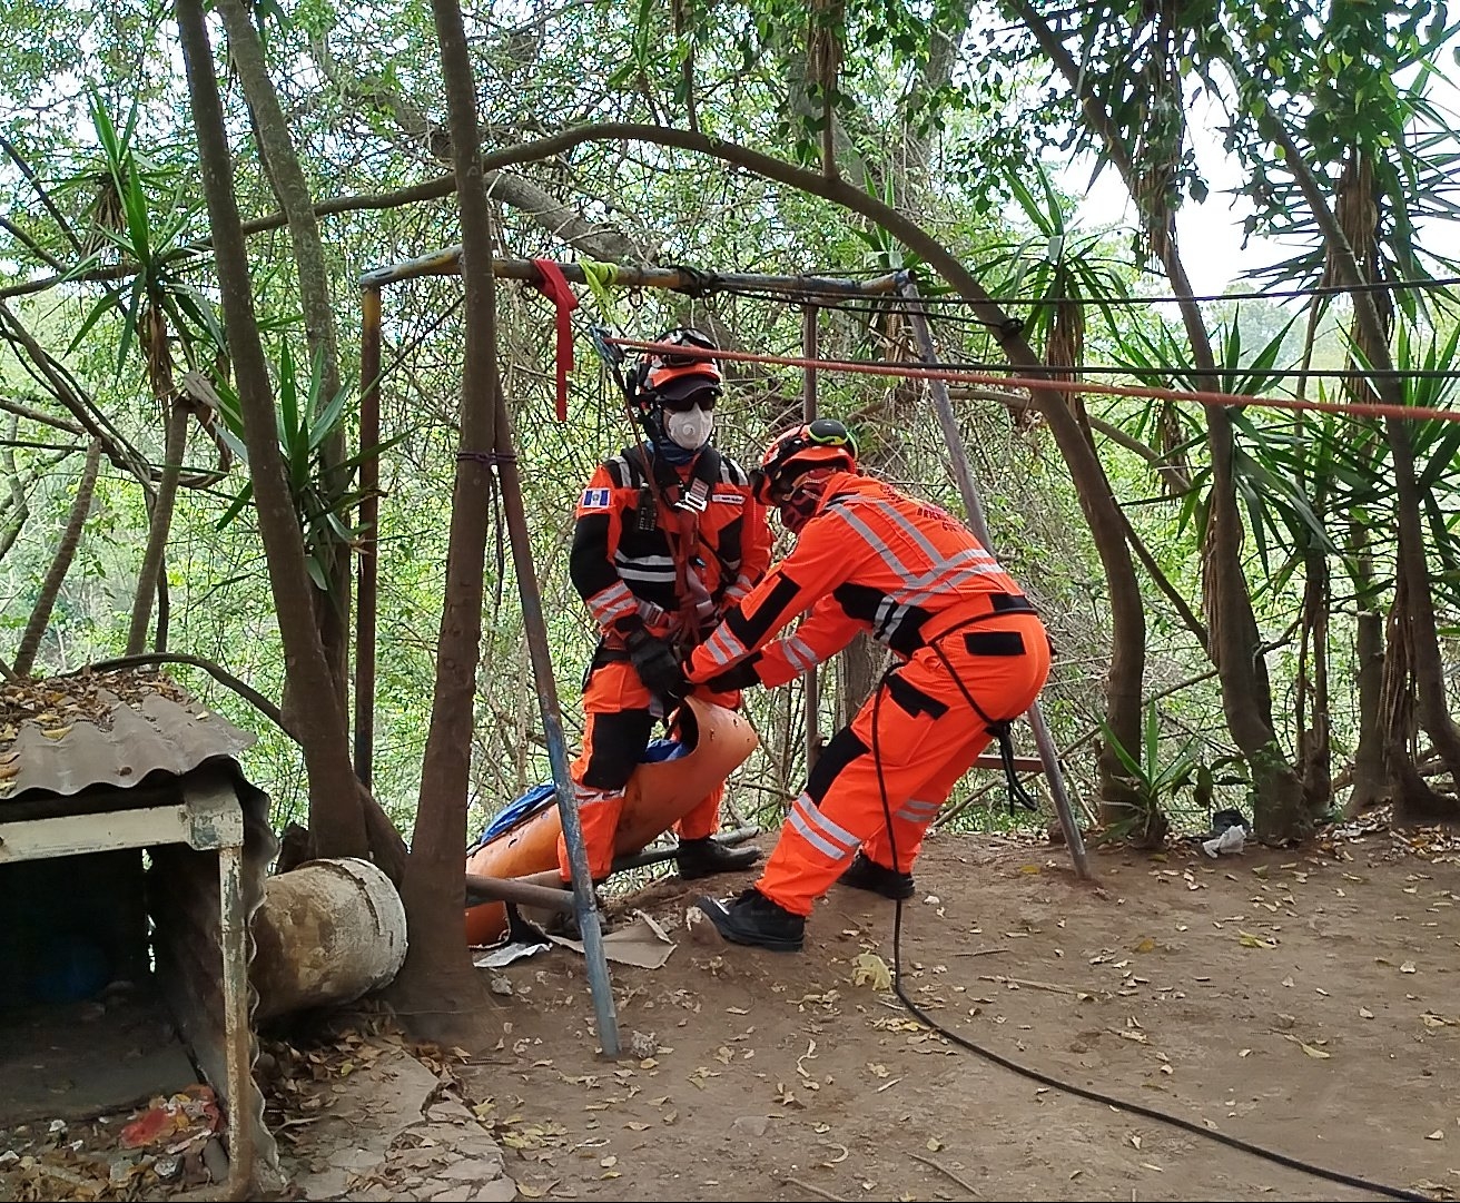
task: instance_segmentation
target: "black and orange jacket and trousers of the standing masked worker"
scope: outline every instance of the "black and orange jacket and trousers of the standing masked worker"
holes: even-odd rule
[[[664,715],[663,699],[631,663],[626,641],[647,631],[688,654],[771,562],[765,507],[739,464],[712,447],[683,466],[647,451],[641,444],[599,464],[578,499],[569,559],[574,588],[602,631],[584,677],[584,739],[571,769],[594,880],[609,875],[623,788]],[[657,491],[647,474],[650,463]],[[702,511],[677,508],[686,491],[698,491]],[[710,699],[733,708],[740,695],[724,691]],[[682,841],[718,829],[723,794],[721,785],[676,825]],[[564,838],[558,864],[566,880]]]

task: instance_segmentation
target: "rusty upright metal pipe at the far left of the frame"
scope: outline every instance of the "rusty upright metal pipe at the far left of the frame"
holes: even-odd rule
[[[375,607],[380,581],[380,289],[361,295],[361,512],[355,585],[355,775],[375,771]]]

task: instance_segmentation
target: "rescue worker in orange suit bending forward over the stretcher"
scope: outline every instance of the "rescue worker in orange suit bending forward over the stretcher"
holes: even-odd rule
[[[781,434],[758,491],[796,547],[694,651],[688,679],[783,685],[860,631],[901,661],[826,745],[755,886],[729,905],[696,904],[729,940],[794,952],[813,901],[838,879],[912,895],[912,863],[953,785],[996,734],[1012,753],[1007,723],[1044,686],[1050,641],[962,523],[858,473],[841,422]]]

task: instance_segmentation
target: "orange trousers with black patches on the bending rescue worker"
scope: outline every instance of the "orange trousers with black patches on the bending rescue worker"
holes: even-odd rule
[[[1018,632],[1023,651],[988,656],[967,647],[967,632],[994,631]],[[813,901],[831,889],[858,847],[877,864],[912,870],[937,809],[991,740],[984,720],[964,699],[959,680],[984,714],[999,721],[1023,714],[1050,673],[1050,644],[1035,615],[987,619],[940,642],[958,680],[930,648],[917,651],[867,699],[851,727],[828,745],[823,758],[832,755],[834,746],[842,752],[831,778],[816,780],[813,774],[807,793],[791,806],[775,851],[755,883],[787,911],[809,915]],[[873,747],[882,759],[891,832]]]

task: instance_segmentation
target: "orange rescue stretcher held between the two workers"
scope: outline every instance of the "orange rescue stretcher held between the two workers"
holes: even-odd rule
[[[615,857],[632,856],[669,831],[759,745],[743,715],[694,696],[680,708],[675,734],[685,750],[672,759],[645,761],[629,778],[613,841]],[[561,834],[562,816],[549,800],[470,848],[466,872],[483,877],[527,877],[556,869]],[[467,907],[469,945],[493,943],[505,930],[504,904]]]

